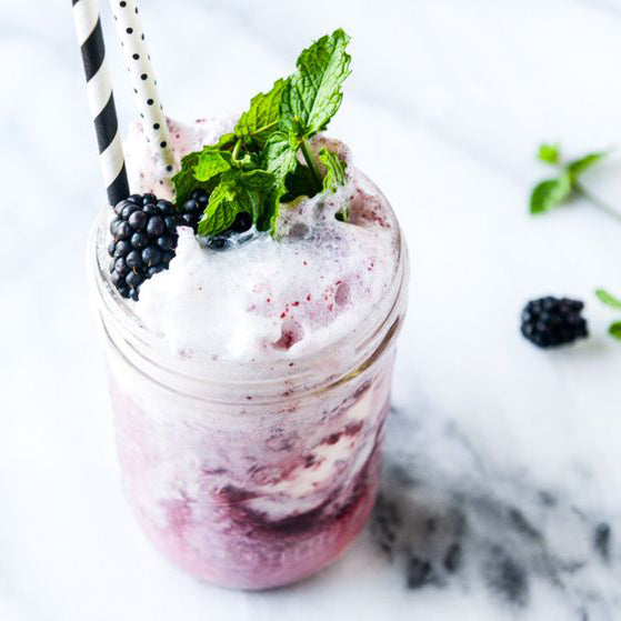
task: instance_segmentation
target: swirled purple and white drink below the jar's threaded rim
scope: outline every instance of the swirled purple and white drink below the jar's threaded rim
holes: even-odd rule
[[[391,352],[355,382],[280,409],[140,395],[131,370],[110,362],[126,491],[170,560],[209,582],[266,589],[323,569],[360,532],[377,494]]]

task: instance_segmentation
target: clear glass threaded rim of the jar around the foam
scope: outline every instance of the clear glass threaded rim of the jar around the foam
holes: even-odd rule
[[[268,361],[239,361],[217,359],[212,353],[201,351],[181,355],[181,352],[166,347],[166,334],[150,330],[113,286],[107,266],[110,208],[106,207],[96,219],[87,250],[91,303],[96,321],[106,338],[146,375],[151,379],[158,375],[160,383],[168,384],[168,388],[182,379],[184,385],[188,382],[194,384],[197,390],[190,392],[201,395],[206,392],[226,393],[226,387],[230,387],[231,391],[234,387],[234,391],[278,393],[282,399],[283,390],[296,394],[300,391],[313,392],[355,377],[381,355],[397,335],[407,304],[409,276],[405,241],[390,203],[367,176],[360,171],[357,173],[385,204],[397,231],[397,259],[391,281],[384,296],[369,304],[364,318],[377,317],[374,322],[361,320],[337,340],[297,357],[284,354]],[[352,334],[357,332],[357,338],[352,340]],[[213,390],[216,385],[219,388],[217,391]]]

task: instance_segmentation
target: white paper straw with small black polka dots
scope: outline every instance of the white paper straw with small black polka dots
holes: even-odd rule
[[[147,142],[154,146],[160,163],[171,172],[174,158],[170,148],[170,136],[138,7],[133,0],[110,0],[110,6],[142,119],[144,137]]]

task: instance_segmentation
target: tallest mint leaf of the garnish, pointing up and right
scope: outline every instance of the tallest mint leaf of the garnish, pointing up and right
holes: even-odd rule
[[[349,76],[349,37],[338,29],[306,49],[298,58],[298,71],[282,91],[280,127],[299,141],[324,130],[337,113]]]

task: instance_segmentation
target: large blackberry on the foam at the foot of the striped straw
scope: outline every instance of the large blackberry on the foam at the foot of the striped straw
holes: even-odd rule
[[[166,270],[174,257],[182,222],[172,203],[154,194],[132,194],[114,207],[108,246],[110,280],[123,298],[138,300],[140,286]]]

